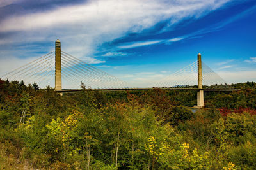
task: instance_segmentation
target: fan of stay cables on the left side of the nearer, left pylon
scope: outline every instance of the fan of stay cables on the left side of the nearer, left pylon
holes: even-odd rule
[[[54,77],[53,56],[54,52],[47,53],[24,66],[18,67],[17,69],[4,74],[1,78],[8,79],[10,81],[23,80],[26,84],[36,82],[40,88],[44,88],[47,85],[52,86],[54,83],[52,82],[52,77]]]

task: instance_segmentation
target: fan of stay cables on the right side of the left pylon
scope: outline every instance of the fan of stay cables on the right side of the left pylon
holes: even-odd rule
[[[61,51],[63,89],[77,89],[81,82],[93,89],[125,89],[125,81],[94,67],[83,60]]]

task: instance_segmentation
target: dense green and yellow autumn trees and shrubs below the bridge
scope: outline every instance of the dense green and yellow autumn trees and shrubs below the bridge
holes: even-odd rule
[[[0,169],[256,169],[256,83],[234,86],[192,113],[195,92],[0,80]]]

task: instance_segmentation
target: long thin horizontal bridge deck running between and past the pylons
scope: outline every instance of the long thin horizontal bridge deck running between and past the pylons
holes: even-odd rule
[[[90,89],[90,90],[98,90],[98,91],[127,91],[127,90],[153,90],[156,88],[124,88],[124,89]],[[162,90],[204,90],[204,91],[216,91],[216,92],[232,92],[238,91],[238,89],[198,89],[198,88],[159,88]],[[79,92],[82,89],[62,89],[56,90],[57,92]]]

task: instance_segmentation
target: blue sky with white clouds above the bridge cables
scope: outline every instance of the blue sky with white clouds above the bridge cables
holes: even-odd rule
[[[256,81],[255,0],[0,0],[0,75],[61,50],[131,83],[202,60]]]

